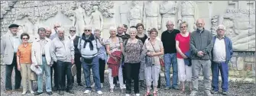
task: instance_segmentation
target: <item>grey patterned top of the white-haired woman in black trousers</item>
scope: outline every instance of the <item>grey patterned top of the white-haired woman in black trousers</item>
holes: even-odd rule
[[[138,40],[137,43],[130,43],[129,41],[125,45],[125,62],[138,63],[141,62],[141,50],[143,43]]]

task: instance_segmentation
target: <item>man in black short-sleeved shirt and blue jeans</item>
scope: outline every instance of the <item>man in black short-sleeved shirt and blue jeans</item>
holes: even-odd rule
[[[161,35],[161,40],[164,45],[164,67],[165,67],[165,81],[167,83],[166,90],[174,88],[179,90],[178,87],[178,69],[177,69],[177,51],[175,37],[180,33],[180,30],[173,29],[173,21],[167,21],[167,30]],[[173,85],[170,85],[170,66],[173,66]]]

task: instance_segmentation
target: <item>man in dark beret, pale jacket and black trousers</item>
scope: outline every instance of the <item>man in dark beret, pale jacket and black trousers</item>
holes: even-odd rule
[[[21,44],[18,32],[18,24],[11,24],[9,27],[11,32],[6,33],[1,40],[1,55],[5,63],[5,89],[7,94],[11,94],[11,73],[15,67],[15,90],[21,91],[21,72],[17,67],[17,50]]]

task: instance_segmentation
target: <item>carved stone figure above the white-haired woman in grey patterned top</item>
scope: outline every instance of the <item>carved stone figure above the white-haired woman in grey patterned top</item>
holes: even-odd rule
[[[142,7],[138,5],[137,1],[132,1],[132,7],[128,13],[128,20],[130,21],[130,27],[136,26],[138,23],[142,23],[143,11]]]

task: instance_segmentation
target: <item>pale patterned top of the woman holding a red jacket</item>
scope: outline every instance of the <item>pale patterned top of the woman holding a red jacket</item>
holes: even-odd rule
[[[123,40],[121,37],[118,37],[118,41],[117,42],[113,42],[111,38],[109,38],[108,40],[105,41],[105,45],[109,45],[109,50],[110,50],[110,53],[113,53],[115,51],[122,51],[121,50],[121,44]]]

